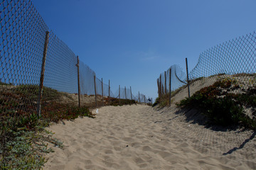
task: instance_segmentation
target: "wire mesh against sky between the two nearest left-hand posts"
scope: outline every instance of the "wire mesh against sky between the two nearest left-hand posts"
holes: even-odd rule
[[[77,62],[74,52],[50,32],[43,85],[70,94],[78,93]]]

